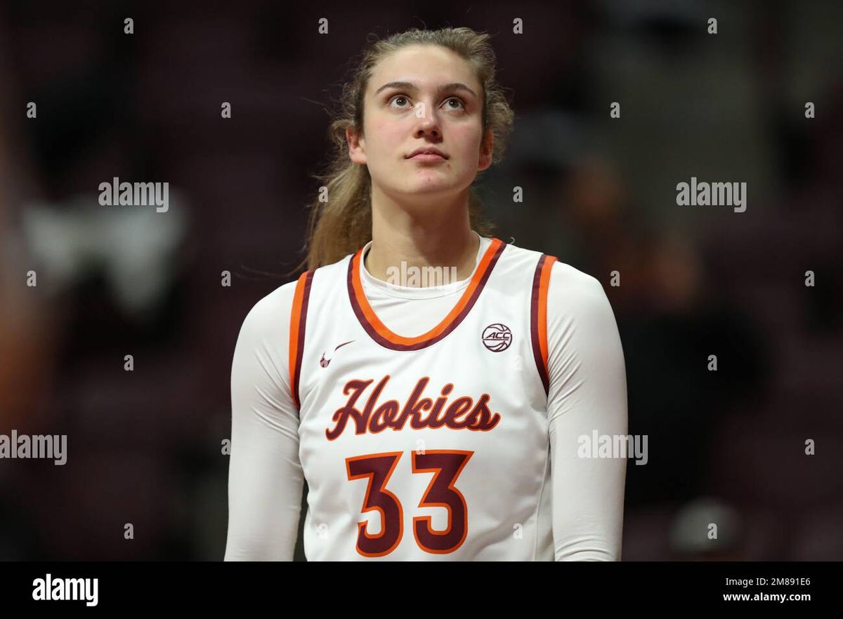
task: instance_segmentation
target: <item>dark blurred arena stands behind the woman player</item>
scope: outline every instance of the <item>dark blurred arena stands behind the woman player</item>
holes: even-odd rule
[[[614,308],[649,440],[623,559],[843,558],[843,3],[179,4],[0,8],[0,434],[67,435],[0,460],[0,559],[223,558],[234,343],[303,257],[326,112],[368,33],[444,25],[512,93],[495,236]],[[677,205],[692,176],[746,211]],[[114,177],[169,211],[99,205]]]

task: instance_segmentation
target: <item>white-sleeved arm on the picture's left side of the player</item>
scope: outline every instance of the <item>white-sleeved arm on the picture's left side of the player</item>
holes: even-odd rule
[[[294,290],[258,301],[234,349],[225,561],[293,560],[304,480],[288,380]]]

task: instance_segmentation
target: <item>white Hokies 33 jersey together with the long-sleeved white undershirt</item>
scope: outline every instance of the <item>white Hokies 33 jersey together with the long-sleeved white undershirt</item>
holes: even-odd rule
[[[469,280],[441,289],[447,314],[421,331],[413,295],[430,291],[384,294],[362,265],[370,245],[277,291],[287,345],[255,346],[266,385],[236,372],[254,354],[244,323],[226,559],[292,558],[302,478],[309,560],[619,559],[626,461],[576,457],[582,435],[626,434],[620,339],[599,282],[484,237]]]

